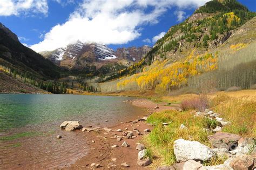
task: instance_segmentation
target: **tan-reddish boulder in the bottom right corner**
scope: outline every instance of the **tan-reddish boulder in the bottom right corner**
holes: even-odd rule
[[[251,155],[241,154],[235,158],[229,158],[224,162],[224,165],[230,166],[233,169],[252,169],[254,158]]]

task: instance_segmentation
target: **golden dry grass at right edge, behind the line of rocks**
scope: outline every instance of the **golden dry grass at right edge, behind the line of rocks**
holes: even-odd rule
[[[224,94],[212,99],[212,109],[224,119],[231,121],[231,125],[223,128],[224,132],[256,137],[256,100],[251,99],[234,98]]]

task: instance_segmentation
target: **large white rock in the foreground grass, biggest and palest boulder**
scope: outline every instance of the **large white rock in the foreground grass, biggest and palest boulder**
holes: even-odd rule
[[[173,149],[178,162],[187,160],[204,161],[215,155],[210,147],[200,144],[198,141],[178,139],[174,141]]]

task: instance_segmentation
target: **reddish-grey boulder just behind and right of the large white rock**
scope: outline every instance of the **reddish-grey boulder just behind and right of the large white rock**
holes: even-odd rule
[[[240,138],[237,134],[227,132],[217,132],[214,135],[208,136],[208,140],[213,148],[227,148],[228,150],[235,149]]]

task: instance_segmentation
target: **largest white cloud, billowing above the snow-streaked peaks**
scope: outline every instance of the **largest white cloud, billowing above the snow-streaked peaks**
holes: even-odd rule
[[[125,44],[140,36],[142,26],[158,23],[158,17],[172,6],[191,8],[207,1],[84,0],[71,13],[68,21],[53,26],[45,33],[44,40],[31,48],[37,52],[51,51],[75,43],[78,39],[83,43]]]

